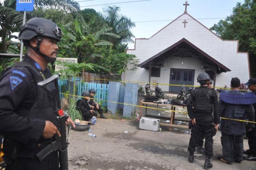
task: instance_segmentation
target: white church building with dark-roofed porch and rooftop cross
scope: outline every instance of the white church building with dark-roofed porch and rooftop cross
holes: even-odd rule
[[[138,69],[126,71],[122,80],[161,84],[199,85],[197,76],[207,72],[215,87],[230,87],[230,80],[250,78],[249,56],[238,52],[237,40],[224,40],[185,11],[150,38],[136,38],[127,54],[139,59]],[[128,67],[129,68],[129,67]],[[144,85],[140,83],[140,85]],[[154,89],[151,85],[151,89]],[[159,85],[163,91],[180,86]]]

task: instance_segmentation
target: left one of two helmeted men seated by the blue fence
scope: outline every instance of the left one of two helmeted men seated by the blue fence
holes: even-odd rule
[[[80,109],[83,119],[85,121],[89,121],[89,119],[95,116],[97,113],[94,112],[88,103],[90,101],[90,93],[88,91],[84,91],[82,93],[82,97],[82,99],[76,102],[76,107]]]

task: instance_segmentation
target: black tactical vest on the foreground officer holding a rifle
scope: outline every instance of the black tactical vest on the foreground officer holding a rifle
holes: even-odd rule
[[[45,77],[42,72],[34,67],[31,63],[27,61],[22,61],[16,63],[9,67],[8,69],[15,68],[15,67],[26,67],[33,75],[33,78],[36,83],[35,89],[35,102],[33,106],[29,110],[15,110],[15,113],[22,117],[29,117],[29,118],[37,118],[42,120],[53,121],[53,101],[48,92],[46,92],[43,88],[37,86],[38,82],[45,80]],[[7,69],[7,70],[8,70]],[[6,71],[7,71],[6,70]],[[5,72],[6,72],[5,71]],[[4,73],[3,73],[4,74]],[[1,80],[1,78],[0,78]],[[49,84],[50,86],[51,84]],[[25,98],[26,100],[26,98]],[[22,103],[21,103],[22,105]],[[35,158],[35,155],[50,144],[50,139],[43,139],[42,137],[37,141],[37,143],[33,146],[28,146],[22,143],[19,143],[19,154],[18,157],[21,158]]]

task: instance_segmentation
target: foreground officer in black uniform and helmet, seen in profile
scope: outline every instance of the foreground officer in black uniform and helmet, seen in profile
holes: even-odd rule
[[[57,151],[42,162],[36,156],[55,134],[60,136],[52,123],[52,99],[37,82],[51,76],[46,65],[56,60],[61,29],[50,20],[33,18],[22,27],[19,38],[27,54],[0,78],[0,134],[6,170],[57,170]],[[70,118],[68,122],[75,126]]]

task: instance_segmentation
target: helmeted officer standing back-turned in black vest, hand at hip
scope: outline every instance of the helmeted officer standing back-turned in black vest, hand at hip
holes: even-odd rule
[[[201,86],[192,91],[187,103],[188,115],[192,121],[191,138],[188,147],[188,161],[193,163],[198,134],[202,133],[205,137],[204,154],[206,155],[206,159],[204,169],[212,168],[212,163],[210,163],[210,158],[213,155],[212,136],[216,134],[216,129],[220,122],[218,97],[214,90],[208,88],[210,80],[211,78],[207,73],[200,73],[197,77],[197,82],[199,82]],[[192,107],[193,103],[194,107]]]

